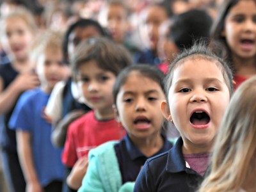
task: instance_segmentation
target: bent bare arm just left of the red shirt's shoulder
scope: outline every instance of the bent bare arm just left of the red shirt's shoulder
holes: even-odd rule
[[[52,144],[56,147],[64,147],[65,140],[67,136],[68,126],[74,122],[77,118],[84,115],[84,111],[77,109],[68,113],[63,119],[61,119],[58,123],[54,124],[54,130],[51,134]]]

